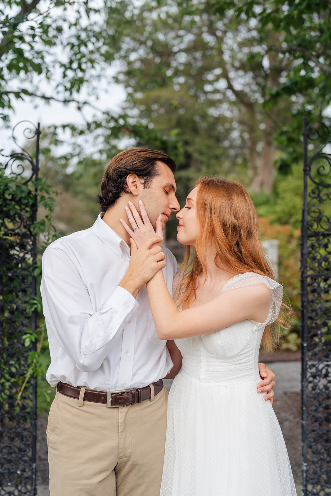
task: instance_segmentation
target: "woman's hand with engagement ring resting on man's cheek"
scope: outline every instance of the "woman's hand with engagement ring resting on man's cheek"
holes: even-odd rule
[[[147,212],[141,200],[139,200],[139,207],[140,207],[142,220],[140,215],[138,214],[137,209],[135,208],[135,206],[131,201],[129,201],[129,206],[125,207],[131,227],[129,227],[128,224],[123,219],[120,219],[123,227],[125,228],[127,233],[130,234],[130,237],[133,239],[137,248],[140,248],[141,245],[149,238],[155,236],[162,237],[162,220],[161,220],[162,215],[159,215],[159,217],[156,219],[156,233],[155,233],[154,228],[150,223]],[[157,243],[157,245],[160,246],[161,242]]]

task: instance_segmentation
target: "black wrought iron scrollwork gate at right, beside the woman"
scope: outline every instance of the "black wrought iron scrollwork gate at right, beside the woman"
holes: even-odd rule
[[[301,222],[303,494],[331,494],[330,128],[304,119]],[[327,146],[327,148],[326,148]],[[313,154],[308,159],[308,150]],[[328,153],[329,152],[329,153]]]

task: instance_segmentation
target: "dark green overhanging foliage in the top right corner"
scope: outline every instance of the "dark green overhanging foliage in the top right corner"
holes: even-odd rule
[[[270,69],[281,70],[277,84],[267,88],[265,109],[284,97],[291,102],[291,119],[277,125],[275,136],[285,151],[277,165],[287,174],[301,160],[302,118],[322,120],[331,102],[331,1],[215,0],[213,7],[220,17],[230,10],[237,19],[253,20],[262,41],[257,58],[271,55]],[[270,32],[280,43],[264,43]]]

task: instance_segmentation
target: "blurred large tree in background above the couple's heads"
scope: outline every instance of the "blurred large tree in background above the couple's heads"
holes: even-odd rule
[[[213,171],[212,163],[222,161],[222,172],[244,168],[252,187],[270,192],[272,136],[275,123],[286,122],[289,103],[284,99],[267,112],[263,104],[281,69],[266,68],[257,57],[262,41],[256,23],[231,10],[220,18],[212,7],[208,0],[161,0],[127,12],[131,22],[120,44],[127,65],[118,76],[129,92],[126,112],[178,129],[193,171],[203,163]],[[279,43],[272,33],[268,38]]]

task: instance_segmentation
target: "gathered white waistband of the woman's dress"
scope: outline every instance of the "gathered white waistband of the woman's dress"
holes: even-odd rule
[[[190,380],[219,385],[242,384],[261,380],[258,364],[250,360],[248,363],[238,361],[223,362],[200,357],[196,360],[183,360],[181,373]]]

